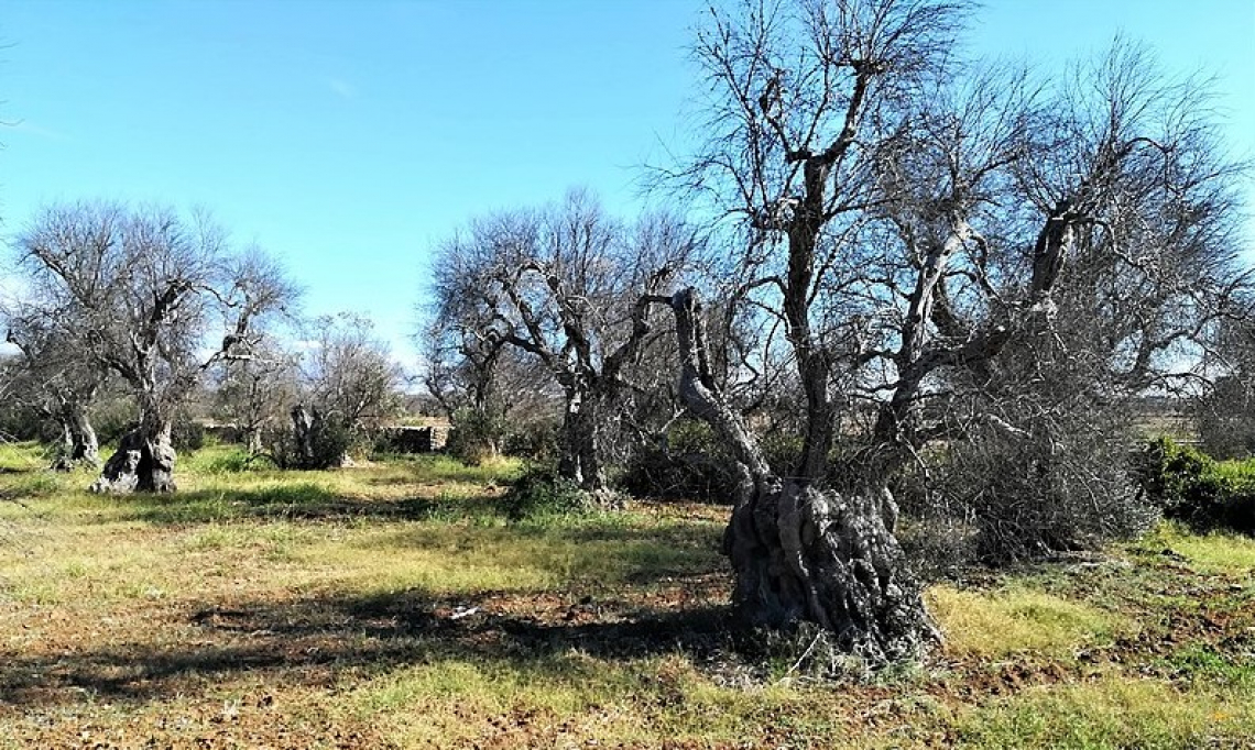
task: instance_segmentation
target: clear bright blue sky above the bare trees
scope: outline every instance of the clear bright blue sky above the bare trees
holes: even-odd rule
[[[4,0],[0,232],[58,199],[205,206],[412,365],[429,248],[468,217],[576,184],[636,207],[685,138],[703,5]],[[1117,31],[1217,74],[1255,156],[1255,0],[989,0],[971,44],[1049,69]]]

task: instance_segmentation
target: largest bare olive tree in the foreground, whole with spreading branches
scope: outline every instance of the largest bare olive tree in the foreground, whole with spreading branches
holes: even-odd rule
[[[659,298],[681,394],[740,467],[735,605],[753,623],[818,623],[872,661],[936,636],[904,573],[895,477],[974,426],[1030,435],[995,396],[1034,369],[1092,361],[1096,395],[1162,380],[1241,283],[1237,167],[1195,89],[1123,45],[1057,87],[961,63],[968,13],[712,10],[695,46],[708,137],[666,176],[739,243],[729,297],[783,332],[758,360],[798,391],[801,444],[773,467],[713,376],[698,295]],[[838,435],[857,449],[835,462]]]

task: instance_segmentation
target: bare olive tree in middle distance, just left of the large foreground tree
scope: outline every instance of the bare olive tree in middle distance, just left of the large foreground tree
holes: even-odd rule
[[[612,404],[646,344],[650,305],[684,271],[695,242],[673,217],[635,227],[582,192],[541,211],[499,213],[438,250],[435,317],[457,321],[481,357],[513,347],[562,393],[560,475],[606,487],[601,450]]]

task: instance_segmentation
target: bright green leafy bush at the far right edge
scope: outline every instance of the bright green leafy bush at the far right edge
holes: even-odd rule
[[[1138,485],[1166,518],[1197,531],[1255,533],[1255,459],[1217,462],[1168,438],[1146,444],[1136,465]]]

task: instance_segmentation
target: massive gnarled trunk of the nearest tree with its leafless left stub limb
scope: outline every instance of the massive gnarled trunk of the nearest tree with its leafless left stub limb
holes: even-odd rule
[[[887,488],[842,495],[817,479],[772,472],[710,378],[695,292],[678,292],[669,304],[680,345],[680,395],[729,445],[742,474],[724,533],[739,616],[774,628],[817,623],[873,663],[917,656],[940,640],[905,569]]]

